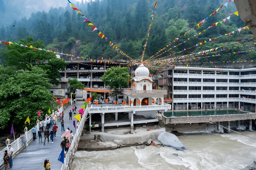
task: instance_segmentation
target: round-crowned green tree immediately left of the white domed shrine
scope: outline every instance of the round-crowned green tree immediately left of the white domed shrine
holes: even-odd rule
[[[107,72],[101,77],[101,80],[109,85],[110,88],[114,89],[116,102],[118,102],[117,91],[124,86],[127,86],[128,83],[128,68],[127,67],[111,67],[107,69]],[[129,77],[129,79],[131,79]],[[130,80],[129,80],[130,81]]]

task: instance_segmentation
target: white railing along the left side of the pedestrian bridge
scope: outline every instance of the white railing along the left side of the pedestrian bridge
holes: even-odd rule
[[[58,109],[59,112],[62,112],[62,107]],[[53,112],[56,113],[57,111]],[[52,113],[52,114],[53,114]],[[39,123],[38,123],[39,124]],[[37,125],[37,127],[39,127],[39,125]],[[29,145],[29,143],[33,140],[33,134],[32,134],[32,129],[30,129],[27,133],[27,145]],[[38,136],[38,133],[36,133],[36,136]],[[14,142],[12,142],[10,145],[12,145],[14,151],[13,151],[13,157],[14,158],[20,151],[22,151],[22,149],[24,148],[24,143],[22,141],[22,139],[19,137],[17,138]],[[3,164],[4,164],[4,151],[7,150],[7,146],[6,148],[4,148],[3,150],[0,151],[0,169],[2,168]]]

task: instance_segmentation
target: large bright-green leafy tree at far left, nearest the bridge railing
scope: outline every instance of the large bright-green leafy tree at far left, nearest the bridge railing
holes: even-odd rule
[[[27,127],[32,128],[38,119],[38,110],[42,115],[47,114],[49,101],[54,99],[48,90],[51,87],[50,79],[39,67],[15,73],[10,73],[9,69],[1,69],[7,75],[12,75],[0,85],[0,128],[14,124],[15,128],[23,130],[28,116],[30,125],[27,124]]]

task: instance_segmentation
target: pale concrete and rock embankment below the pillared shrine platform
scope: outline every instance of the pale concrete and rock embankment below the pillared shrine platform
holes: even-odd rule
[[[80,148],[78,150],[113,150],[128,146],[145,145],[149,140],[157,139],[161,132],[165,132],[165,128],[126,135],[94,132],[81,136],[79,142]]]

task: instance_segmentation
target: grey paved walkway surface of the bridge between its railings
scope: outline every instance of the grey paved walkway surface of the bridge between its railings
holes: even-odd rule
[[[72,109],[74,105],[71,105],[69,108],[67,108],[64,111],[64,127],[65,130],[69,127],[70,130],[73,131],[73,134],[76,132],[74,126],[73,126],[73,120],[77,120],[73,118],[74,115],[72,115],[72,121],[69,120],[69,111]],[[77,106],[77,113],[78,110],[81,108],[82,104],[76,104]],[[28,147],[27,150],[22,150],[20,153],[18,153],[15,158],[13,159],[13,167],[10,170],[23,170],[23,169],[44,169],[43,164],[44,160],[49,159],[49,162],[51,163],[51,170],[60,170],[62,163],[58,161],[61,147],[60,142],[62,141],[62,138],[60,137],[64,132],[61,132],[61,124],[60,122],[57,122],[58,131],[56,133],[56,138],[54,138],[54,143],[51,143],[50,137],[49,137],[49,143],[46,143],[45,146],[43,143],[39,143],[38,137],[35,141],[32,141]],[[52,129],[52,127],[50,128]],[[44,142],[44,137],[42,139]]]

